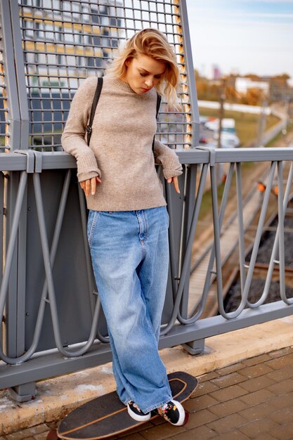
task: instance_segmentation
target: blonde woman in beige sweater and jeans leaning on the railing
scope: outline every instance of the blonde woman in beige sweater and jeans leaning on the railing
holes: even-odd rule
[[[157,409],[173,425],[183,425],[185,411],[172,399],[157,349],[169,217],[155,161],[177,193],[182,167],[161,142],[155,141],[152,151],[157,91],[176,106],[177,83],[176,56],[164,34],[152,29],[136,33],[103,78],[90,145],[85,131],[96,77],[77,90],[62,143],[77,158],[89,208],[89,247],[119,399],[135,420],[148,420]]]

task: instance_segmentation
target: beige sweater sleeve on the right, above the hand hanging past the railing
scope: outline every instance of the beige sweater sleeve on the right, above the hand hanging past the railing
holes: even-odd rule
[[[178,156],[171,148],[164,145],[160,141],[155,141],[155,163],[162,164],[165,179],[182,174],[182,165],[178,160]]]

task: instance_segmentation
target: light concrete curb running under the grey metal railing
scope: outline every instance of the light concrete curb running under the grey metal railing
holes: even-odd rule
[[[160,351],[168,373],[182,370],[195,376],[293,345],[293,316],[206,340],[200,356],[181,346]],[[37,399],[15,403],[7,390],[0,392],[0,435],[11,434],[63,418],[82,403],[115,390],[111,363],[37,384]]]

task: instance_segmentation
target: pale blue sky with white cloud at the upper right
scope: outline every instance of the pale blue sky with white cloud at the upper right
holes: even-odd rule
[[[193,64],[293,78],[293,0],[186,0]]]

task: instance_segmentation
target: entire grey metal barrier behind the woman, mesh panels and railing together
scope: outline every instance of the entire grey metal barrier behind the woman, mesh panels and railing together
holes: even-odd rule
[[[76,162],[60,148],[60,133],[79,79],[100,75],[119,41],[142,27],[158,27],[176,48],[183,104],[178,119],[163,105],[158,124],[158,136],[169,145],[176,143],[183,164],[181,194],[164,186],[170,215],[170,266],[159,347],[186,344],[195,354],[211,335],[292,314],[292,301],[286,297],[282,226],[292,191],[292,149],[194,148],[199,124],[185,1],[27,0],[17,4],[2,0],[0,12],[1,146],[10,151],[0,153],[0,211],[4,214],[0,222],[4,240],[0,388],[9,387],[15,399],[26,401],[34,394],[37,380],[111,359],[86,240],[84,196],[76,179]],[[261,214],[248,270],[241,171],[245,162],[271,163],[266,193],[259,200]],[[222,163],[229,165],[229,172],[218,209],[216,166]],[[289,167],[286,176],[282,164],[286,172]],[[214,246],[200,300],[193,301],[190,259],[207,179],[211,179]],[[266,288],[256,304],[250,304],[248,293],[275,179],[279,228]],[[237,311],[227,313],[221,240],[233,184],[242,299]],[[277,247],[280,301],[263,304],[277,264]],[[202,319],[214,276],[220,314]]]

